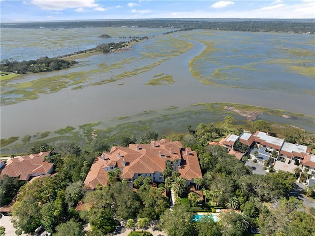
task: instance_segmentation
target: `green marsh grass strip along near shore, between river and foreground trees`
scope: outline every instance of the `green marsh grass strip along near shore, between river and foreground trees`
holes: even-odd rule
[[[292,113],[289,111],[283,110],[273,110],[267,107],[252,106],[247,104],[238,104],[238,103],[197,103],[189,106],[187,109],[179,109],[176,106],[169,106],[162,110],[147,110],[141,113],[138,113],[133,116],[125,117],[113,117],[111,120],[108,120],[105,123],[95,122],[88,123],[78,127],[75,130],[74,127],[66,127],[55,131],[50,138],[46,138],[44,141],[49,145],[53,146],[56,141],[66,140],[74,143],[78,143],[80,147],[84,148],[85,145],[93,140],[93,135],[96,134],[97,138],[101,138],[108,143],[114,143],[119,145],[121,138],[123,136],[135,135],[139,138],[145,131],[154,130],[158,132],[161,136],[166,134],[177,134],[176,137],[186,134],[187,124],[194,126],[199,123],[214,123],[218,127],[222,127],[224,124],[223,118],[226,115],[231,115],[235,117],[235,125],[233,129],[241,127],[245,130],[251,130],[251,120],[246,120],[232,110],[225,109],[225,106],[232,106],[239,110],[244,111],[260,111],[264,114],[283,116],[284,114],[289,115],[292,119],[300,120],[300,122],[313,122],[314,117],[305,116],[299,113]],[[174,129],[174,124],[178,124],[177,128]],[[182,127],[180,127],[182,124]],[[294,133],[295,131],[301,132],[302,130],[298,127],[287,125],[287,124],[278,124],[275,122],[270,122],[271,132],[279,134],[280,137],[285,136],[286,134]],[[43,132],[41,134],[44,134]],[[46,133],[49,135],[48,133]],[[33,136],[34,137],[37,137]],[[174,135],[173,135],[174,136]],[[174,137],[175,137],[174,136]],[[16,140],[19,137],[11,137],[10,141],[6,139],[1,139],[1,152],[2,153],[21,153],[28,151],[28,148],[32,146],[32,139],[30,142],[16,143],[15,145],[8,145]],[[37,138],[38,139],[38,138]],[[6,147],[4,147],[4,144]],[[4,147],[4,148],[2,148]]]

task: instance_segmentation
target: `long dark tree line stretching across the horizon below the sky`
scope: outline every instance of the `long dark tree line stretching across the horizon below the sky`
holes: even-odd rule
[[[186,28],[212,29],[226,31],[250,32],[292,32],[314,34],[315,22],[312,19],[281,19],[281,20],[123,20],[123,21],[82,21],[82,22],[30,22],[30,23],[1,23],[5,28],[87,28],[87,27],[145,27],[145,28]]]

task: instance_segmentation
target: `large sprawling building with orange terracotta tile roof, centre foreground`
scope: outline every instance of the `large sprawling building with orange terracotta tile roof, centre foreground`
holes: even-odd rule
[[[166,160],[184,177],[188,184],[194,178],[202,178],[197,153],[183,148],[178,141],[161,139],[150,144],[129,144],[129,147],[113,146],[95,159],[84,184],[95,189],[98,183],[107,185],[107,171],[122,170],[122,178],[132,182],[140,175],[151,177],[152,182],[164,182]]]

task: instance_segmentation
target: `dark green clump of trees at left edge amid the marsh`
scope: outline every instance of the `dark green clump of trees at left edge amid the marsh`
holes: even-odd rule
[[[27,72],[44,72],[60,70],[71,67],[76,64],[75,61],[66,61],[58,58],[42,57],[36,60],[18,62],[13,59],[4,59],[0,62],[0,70],[5,72],[14,72],[25,74]]]

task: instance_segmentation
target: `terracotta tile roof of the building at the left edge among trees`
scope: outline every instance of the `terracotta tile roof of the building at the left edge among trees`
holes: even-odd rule
[[[20,180],[29,180],[31,176],[45,175],[53,171],[54,163],[44,161],[50,152],[40,152],[22,157],[11,158],[1,169],[1,177],[20,177]]]

